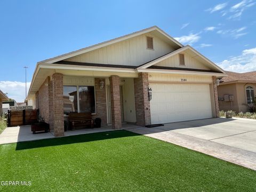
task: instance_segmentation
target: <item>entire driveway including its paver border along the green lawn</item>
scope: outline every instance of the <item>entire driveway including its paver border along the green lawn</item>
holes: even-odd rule
[[[202,119],[127,129],[256,170],[256,120]]]

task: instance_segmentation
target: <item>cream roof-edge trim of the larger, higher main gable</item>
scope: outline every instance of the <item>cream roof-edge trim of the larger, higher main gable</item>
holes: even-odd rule
[[[98,43],[98,44],[95,44],[95,45],[92,45],[92,46],[88,46],[88,47],[85,47],[83,49],[72,51],[72,52],[69,52],[69,53],[66,53],[66,54],[62,54],[62,55],[59,55],[59,56],[54,57],[54,58],[50,58],[50,59],[46,59],[46,60],[43,60],[43,61],[39,61],[38,63],[54,63],[54,62],[58,62],[58,61],[65,60],[65,59],[68,59],[68,58],[71,58],[71,57],[75,57],[75,56],[77,56],[79,54],[83,54],[83,53],[86,53],[86,52],[89,52],[89,51],[93,51],[93,50],[99,49],[101,47],[104,47],[104,46],[107,46],[107,45],[110,45],[110,44],[114,44],[114,43],[118,43],[118,42],[124,41],[126,39],[129,39],[129,38],[132,38],[132,37],[135,37],[135,36],[146,34],[146,33],[149,33],[151,31],[157,31],[158,33],[162,34],[164,37],[169,39],[172,43],[177,45],[177,47],[183,47],[183,45],[181,43],[179,43],[177,40],[175,40],[170,35],[166,34],[162,29],[160,29],[157,26],[153,26],[153,27],[149,27],[149,28],[146,28],[146,29],[143,29],[143,30],[136,31],[136,32],[128,34],[128,35],[124,35],[124,36],[121,36],[121,37],[110,39],[109,41],[105,41],[105,42]]]

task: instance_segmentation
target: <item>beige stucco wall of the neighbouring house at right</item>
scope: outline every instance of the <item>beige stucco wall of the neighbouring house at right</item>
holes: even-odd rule
[[[218,95],[223,98],[225,94],[233,94],[233,111],[238,112],[247,112],[247,101],[246,101],[246,87],[252,86],[254,88],[254,94],[256,92],[256,83],[233,83],[226,85],[219,85],[218,87]],[[231,110],[231,101],[219,101],[220,110]]]

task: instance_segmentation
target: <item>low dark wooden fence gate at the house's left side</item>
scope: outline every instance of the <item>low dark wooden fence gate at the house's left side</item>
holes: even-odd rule
[[[8,126],[31,125],[38,122],[38,109],[8,110]]]

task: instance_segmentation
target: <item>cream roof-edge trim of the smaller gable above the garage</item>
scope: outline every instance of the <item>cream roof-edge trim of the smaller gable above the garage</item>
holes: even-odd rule
[[[168,58],[172,57],[172,56],[175,55],[175,54],[179,54],[180,52],[186,51],[186,50],[190,50],[190,51],[194,52],[196,55],[198,55],[199,58],[201,58],[201,59],[203,59],[204,61],[206,61],[207,63],[209,63],[209,64],[213,67],[214,71],[216,71],[216,72],[218,72],[218,73],[223,73],[223,74],[225,74],[225,71],[224,71],[224,70],[222,70],[219,66],[217,66],[217,65],[216,65],[214,62],[212,62],[211,60],[209,60],[209,59],[207,59],[206,57],[204,57],[204,55],[202,55],[201,53],[199,53],[198,51],[196,51],[196,50],[195,50],[193,47],[191,47],[190,45],[183,46],[183,47],[181,47],[181,48],[178,49],[178,50],[175,50],[175,51],[173,51],[173,52],[171,52],[171,53],[167,53],[167,54],[163,55],[162,57],[159,57],[159,58],[157,58],[157,59],[154,59],[154,60],[152,60],[152,61],[149,61],[149,62],[145,63],[144,65],[141,65],[140,67],[138,67],[138,69],[146,69],[146,68],[149,68],[150,66],[153,66],[153,65],[155,65],[155,64],[158,63],[158,62],[161,62],[161,61],[163,61],[163,60],[165,60],[165,59],[168,59]]]

